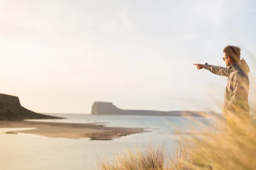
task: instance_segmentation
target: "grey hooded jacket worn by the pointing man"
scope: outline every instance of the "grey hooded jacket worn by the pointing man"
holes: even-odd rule
[[[213,74],[228,77],[225,91],[223,115],[228,118],[231,116],[250,116],[248,105],[249,77],[250,69],[244,59],[238,63],[229,65],[227,68],[205,65],[205,69]]]

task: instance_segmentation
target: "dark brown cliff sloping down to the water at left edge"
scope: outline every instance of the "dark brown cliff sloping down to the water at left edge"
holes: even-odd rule
[[[17,96],[0,94],[0,120],[23,120],[23,119],[62,119],[35,113],[23,108]]]

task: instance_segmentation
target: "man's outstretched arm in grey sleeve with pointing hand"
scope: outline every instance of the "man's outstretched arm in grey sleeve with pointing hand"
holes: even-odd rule
[[[220,67],[220,66],[215,66],[215,65],[204,65],[204,64],[194,64],[197,66],[197,69],[207,69],[209,71],[211,71],[213,74],[219,75],[219,76],[225,76],[225,77],[229,77],[231,71],[227,68],[224,67]]]

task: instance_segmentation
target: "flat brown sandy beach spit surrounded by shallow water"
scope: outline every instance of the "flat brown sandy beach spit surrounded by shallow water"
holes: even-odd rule
[[[90,138],[91,140],[111,140],[133,133],[145,132],[142,128],[105,127],[96,124],[52,123],[52,122],[0,122],[0,128],[35,127],[34,130],[7,133],[29,133],[53,138]]]

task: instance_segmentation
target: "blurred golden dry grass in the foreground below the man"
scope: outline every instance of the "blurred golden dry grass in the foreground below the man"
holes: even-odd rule
[[[218,132],[181,137],[172,154],[163,146],[126,150],[112,162],[101,161],[99,170],[255,170],[256,127],[227,131],[222,120],[216,121]]]

